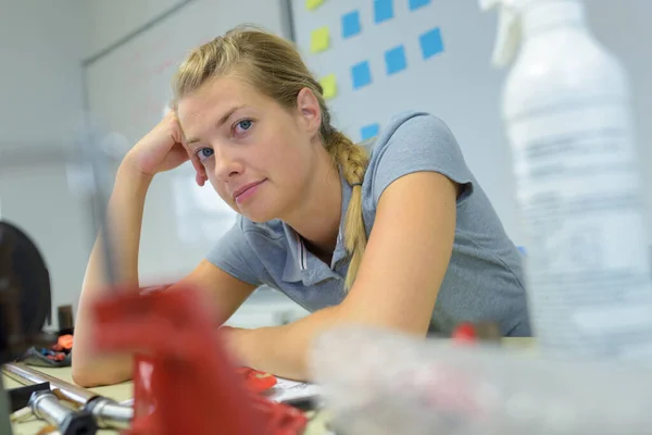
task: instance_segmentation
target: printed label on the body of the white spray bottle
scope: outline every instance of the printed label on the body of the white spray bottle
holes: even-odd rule
[[[548,348],[652,355],[652,283],[628,112],[619,101],[509,122],[535,332]],[[642,331],[645,334],[635,334]]]

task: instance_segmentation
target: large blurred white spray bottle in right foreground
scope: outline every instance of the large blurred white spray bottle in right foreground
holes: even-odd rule
[[[652,357],[652,279],[625,71],[587,27],[581,0],[500,7],[493,64],[527,240],[539,347]],[[616,7],[614,4],[614,7]]]

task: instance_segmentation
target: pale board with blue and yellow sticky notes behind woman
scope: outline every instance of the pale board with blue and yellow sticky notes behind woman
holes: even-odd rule
[[[393,16],[376,23],[378,3],[389,3]],[[381,129],[405,110],[439,116],[457,138],[507,233],[521,241],[511,157],[499,113],[504,72],[489,64],[496,15],[482,14],[473,0],[324,0],[314,10],[305,4],[292,0],[296,40],[317,77],[335,74],[337,95],[327,103],[336,126],[361,140],[363,130],[373,133],[375,125]],[[411,4],[418,8],[412,10]],[[360,33],[344,37],[343,22],[355,11]],[[323,27],[329,29],[329,47],[312,52],[312,34]],[[443,50],[424,58],[421,37],[437,33]],[[391,58],[397,47],[403,48],[405,67],[388,74],[386,52]],[[365,61],[371,84],[355,88],[353,69]],[[396,64],[390,62],[394,70]]]

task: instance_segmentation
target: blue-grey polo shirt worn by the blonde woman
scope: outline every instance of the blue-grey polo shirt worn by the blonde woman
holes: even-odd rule
[[[462,186],[452,257],[432,311],[431,330],[448,334],[463,321],[494,321],[505,336],[530,335],[521,253],[439,119],[423,112],[403,113],[375,139],[362,185],[367,236],[385,188],[419,171],[441,173]],[[309,311],[340,303],[350,260],[342,231],[351,198],[351,186],[341,179],[340,233],[330,264],[305,249],[284,222],[259,224],[243,216],[238,216],[208,260],[238,279],[283,291]]]

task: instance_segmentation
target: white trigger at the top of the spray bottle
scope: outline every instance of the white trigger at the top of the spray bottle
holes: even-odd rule
[[[514,58],[521,39],[521,20],[516,0],[478,0],[478,3],[482,11],[501,8],[491,63],[497,67],[503,67]]]

